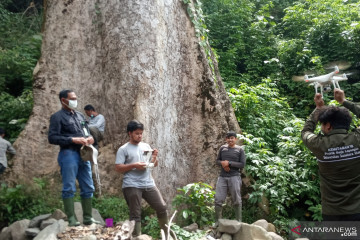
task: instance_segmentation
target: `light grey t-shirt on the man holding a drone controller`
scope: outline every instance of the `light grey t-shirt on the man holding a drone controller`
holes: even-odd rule
[[[138,145],[125,143],[116,153],[115,164],[131,164],[136,162],[146,162],[146,153],[151,151],[147,143],[140,142]],[[137,170],[132,169],[124,174],[122,188],[149,188],[154,187],[155,182],[151,176],[150,169]]]

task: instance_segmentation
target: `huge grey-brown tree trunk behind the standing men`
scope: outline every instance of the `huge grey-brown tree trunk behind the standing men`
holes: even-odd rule
[[[128,140],[132,119],[144,123],[143,140],[159,149],[153,175],[165,200],[190,182],[214,185],[224,135],[240,129],[187,6],[170,0],[47,0],[44,14],[34,108],[4,179],[59,177],[59,147],[48,143],[47,133],[51,114],[60,109],[59,91],[70,88],[78,110],[92,104],[106,118],[99,156],[104,193],[121,191],[115,154]]]

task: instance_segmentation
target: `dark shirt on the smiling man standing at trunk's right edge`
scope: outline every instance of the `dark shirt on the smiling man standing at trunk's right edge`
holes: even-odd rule
[[[233,148],[225,144],[220,147],[216,164],[221,166],[221,161],[228,160],[230,165],[230,171],[226,172],[224,168],[221,168],[221,177],[240,176],[240,169],[245,167],[245,152],[242,147],[235,145]]]

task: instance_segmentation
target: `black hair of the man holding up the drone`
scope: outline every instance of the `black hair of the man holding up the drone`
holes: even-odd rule
[[[318,120],[320,123],[330,123],[333,129],[349,130],[352,117],[346,108],[328,106],[321,109]]]

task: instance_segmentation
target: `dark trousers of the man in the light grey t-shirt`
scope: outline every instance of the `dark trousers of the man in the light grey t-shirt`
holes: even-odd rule
[[[158,219],[167,216],[166,203],[157,187],[123,188],[124,197],[130,210],[130,220],[141,221],[141,199],[156,211]]]

